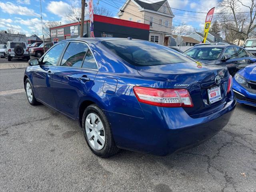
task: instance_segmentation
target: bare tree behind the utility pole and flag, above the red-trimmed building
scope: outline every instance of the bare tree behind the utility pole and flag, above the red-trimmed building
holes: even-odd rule
[[[113,13],[110,10],[102,6],[94,5],[93,9],[94,9],[94,14],[109,16],[109,17],[113,16]],[[81,4],[72,4],[69,8],[68,13],[66,14],[67,20],[70,22],[78,22],[78,20],[80,21],[81,10],[82,10]],[[89,19],[89,11],[88,11],[88,7],[86,7],[84,10],[84,20],[88,20],[88,19]]]

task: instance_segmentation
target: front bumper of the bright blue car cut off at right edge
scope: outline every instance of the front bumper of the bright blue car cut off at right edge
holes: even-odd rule
[[[233,78],[233,91],[236,95],[236,100],[238,103],[256,107],[256,90],[255,90],[255,93],[248,92],[248,90],[246,90],[246,88],[241,86]]]

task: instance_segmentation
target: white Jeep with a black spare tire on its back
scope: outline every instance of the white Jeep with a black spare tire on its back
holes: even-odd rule
[[[26,42],[8,41],[5,51],[8,61],[11,61],[12,58],[25,58],[26,60],[30,60]]]

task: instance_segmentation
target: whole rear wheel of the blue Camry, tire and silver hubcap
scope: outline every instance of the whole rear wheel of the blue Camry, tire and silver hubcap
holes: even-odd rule
[[[82,128],[86,143],[97,156],[108,157],[119,151],[114,142],[108,119],[96,104],[92,104],[84,110]]]

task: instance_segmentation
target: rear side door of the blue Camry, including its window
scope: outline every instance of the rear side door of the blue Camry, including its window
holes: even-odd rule
[[[69,42],[52,77],[56,108],[76,118],[78,103],[93,85],[98,67],[85,42]]]

